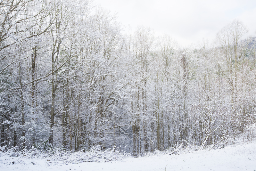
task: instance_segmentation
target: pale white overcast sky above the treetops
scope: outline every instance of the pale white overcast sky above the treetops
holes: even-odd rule
[[[164,33],[188,46],[214,40],[216,33],[234,19],[256,31],[256,0],[94,0],[95,5],[116,12],[118,20],[134,30],[138,25]],[[127,29],[128,30],[128,29]]]

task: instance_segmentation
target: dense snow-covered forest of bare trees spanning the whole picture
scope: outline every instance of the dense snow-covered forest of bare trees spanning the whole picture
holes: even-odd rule
[[[185,48],[116,17],[89,0],[1,0],[1,151],[252,141],[256,43],[241,21]]]

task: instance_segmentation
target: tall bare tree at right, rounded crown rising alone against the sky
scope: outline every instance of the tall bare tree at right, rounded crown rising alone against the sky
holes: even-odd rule
[[[244,62],[244,58],[247,55],[248,42],[242,40],[243,36],[248,32],[248,28],[239,20],[234,20],[227,26],[223,27],[217,34],[217,41],[221,46],[221,52],[223,53],[226,61],[227,71],[222,70],[223,77],[229,84],[231,92],[231,105],[232,105],[232,117],[233,117],[233,128],[240,129],[237,118],[239,118],[239,105],[238,105],[238,74],[240,66]],[[238,121],[240,122],[240,121]],[[243,124],[242,124],[243,125]],[[242,126],[243,127],[243,126]],[[241,127],[241,129],[243,129]]]

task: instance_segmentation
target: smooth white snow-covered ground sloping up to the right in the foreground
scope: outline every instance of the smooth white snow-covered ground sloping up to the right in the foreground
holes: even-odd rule
[[[14,163],[13,163],[14,162]],[[0,157],[1,171],[256,171],[256,142],[217,150],[128,158],[118,162],[65,163],[46,159]]]

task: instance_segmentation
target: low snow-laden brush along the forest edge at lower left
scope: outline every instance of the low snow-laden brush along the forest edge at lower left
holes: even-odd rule
[[[43,143],[44,144],[44,143]],[[44,147],[44,146],[39,146]],[[79,162],[110,162],[120,161],[131,157],[130,153],[119,151],[115,146],[111,149],[102,151],[100,146],[93,147],[90,151],[64,151],[62,148],[41,148],[32,147],[27,150],[19,151],[17,147],[7,151],[0,151],[0,162],[14,164],[24,161],[33,162],[33,159],[42,159],[48,163],[79,163]],[[24,160],[30,159],[30,160]]]

